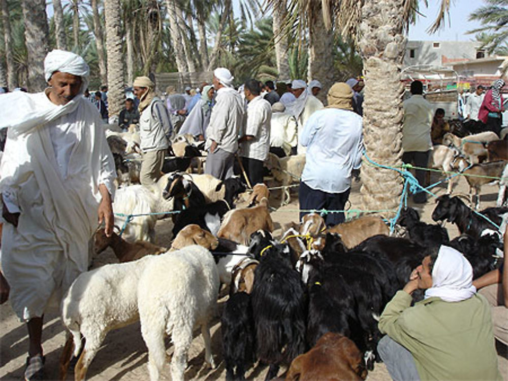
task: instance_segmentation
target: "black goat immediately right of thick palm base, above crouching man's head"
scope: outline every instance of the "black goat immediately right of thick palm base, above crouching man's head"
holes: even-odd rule
[[[412,207],[403,209],[397,222],[407,229],[409,239],[420,246],[439,247],[450,241],[445,228],[420,221],[420,215]]]

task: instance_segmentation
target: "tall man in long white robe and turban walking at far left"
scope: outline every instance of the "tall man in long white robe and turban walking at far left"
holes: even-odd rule
[[[98,223],[108,236],[113,229],[115,167],[101,116],[82,96],[88,65],[53,50],[44,74],[50,87],[4,95],[0,118],[0,128],[8,127],[0,181],[2,269],[11,305],[28,326],[25,379],[43,377],[41,334],[50,300],[59,302],[88,269]]]

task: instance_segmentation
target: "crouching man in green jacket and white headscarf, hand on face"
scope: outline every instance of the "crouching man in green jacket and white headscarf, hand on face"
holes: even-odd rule
[[[500,380],[487,300],[472,285],[472,267],[457,250],[430,249],[387,304],[378,352],[395,380]],[[425,299],[411,305],[411,294]]]

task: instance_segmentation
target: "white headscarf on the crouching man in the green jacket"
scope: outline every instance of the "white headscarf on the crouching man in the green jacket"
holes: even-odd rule
[[[457,250],[442,245],[432,269],[432,287],[425,291],[425,299],[433,296],[446,302],[469,299],[476,293],[472,279],[469,261]]]

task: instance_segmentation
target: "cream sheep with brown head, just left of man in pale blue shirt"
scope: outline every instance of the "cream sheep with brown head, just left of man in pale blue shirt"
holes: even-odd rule
[[[277,155],[268,153],[265,166],[272,171],[273,178],[283,187],[280,206],[288,204],[291,201],[288,186],[300,182],[305,166],[305,154],[279,158]]]

